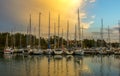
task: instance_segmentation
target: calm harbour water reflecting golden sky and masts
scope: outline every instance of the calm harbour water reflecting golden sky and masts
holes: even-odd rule
[[[0,76],[120,76],[120,56],[0,55]]]

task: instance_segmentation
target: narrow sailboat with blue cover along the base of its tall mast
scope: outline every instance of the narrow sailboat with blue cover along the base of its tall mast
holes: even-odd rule
[[[50,12],[49,12],[49,25],[48,25],[48,49],[45,51],[45,54],[51,55],[53,53],[50,46]]]

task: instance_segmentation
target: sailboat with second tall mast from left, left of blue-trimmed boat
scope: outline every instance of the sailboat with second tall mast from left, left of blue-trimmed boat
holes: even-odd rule
[[[34,48],[33,54],[34,55],[41,55],[43,54],[43,51],[41,50],[41,45],[40,45],[40,18],[41,18],[41,13],[39,13],[39,43],[38,43],[38,49]],[[35,40],[34,40],[35,42]]]

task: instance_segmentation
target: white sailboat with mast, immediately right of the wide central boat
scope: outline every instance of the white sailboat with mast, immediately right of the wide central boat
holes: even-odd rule
[[[69,21],[67,22],[67,49],[65,50],[65,54],[72,55],[73,49],[69,47]]]

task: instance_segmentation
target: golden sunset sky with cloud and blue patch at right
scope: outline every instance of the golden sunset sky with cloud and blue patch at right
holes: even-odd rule
[[[104,21],[104,31],[108,26],[112,33],[118,31],[120,20],[120,0],[0,0],[0,32],[26,32],[31,14],[32,29],[38,33],[38,17],[41,12],[41,32],[48,32],[49,12],[51,15],[51,33],[54,23],[58,25],[60,14],[60,30],[67,30],[67,21],[70,32],[74,33],[77,25],[77,10],[80,10],[81,25],[85,35],[100,32],[101,19]]]

